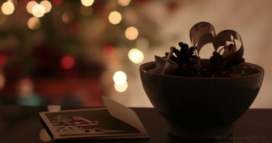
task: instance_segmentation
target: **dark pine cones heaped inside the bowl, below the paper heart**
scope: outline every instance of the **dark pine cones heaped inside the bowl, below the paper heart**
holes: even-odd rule
[[[179,65],[173,75],[190,76],[190,77],[232,77],[229,69],[232,66],[238,65],[245,61],[245,59],[239,59],[238,61],[229,61],[229,57],[224,58],[218,52],[213,52],[213,55],[209,59],[209,64],[201,65],[200,57],[195,55],[196,47],[189,47],[186,43],[179,43],[180,50],[175,47],[170,59]],[[232,45],[229,45],[232,47]],[[169,52],[165,53],[167,57]],[[201,68],[200,68],[200,67]]]

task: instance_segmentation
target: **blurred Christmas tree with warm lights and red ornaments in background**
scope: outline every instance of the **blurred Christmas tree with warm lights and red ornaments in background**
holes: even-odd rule
[[[77,97],[80,105],[101,105],[101,77],[103,81],[114,77],[116,90],[126,91],[126,73],[117,72],[120,65],[141,63],[141,50],[160,44],[156,23],[141,10],[146,3],[149,1],[3,1],[0,100],[15,95],[28,100],[36,95],[59,103],[51,98],[58,96],[63,104],[64,97],[67,103]],[[122,52],[125,49],[131,50]],[[107,76],[102,75],[105,70],[110,71]],[[19,86],[26,80],[30,86]]]

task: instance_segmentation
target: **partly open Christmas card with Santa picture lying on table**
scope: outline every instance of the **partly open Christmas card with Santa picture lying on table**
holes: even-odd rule
[[[40,112],[53,140],[148,138],[137,114],[103,96],[106,108]]]

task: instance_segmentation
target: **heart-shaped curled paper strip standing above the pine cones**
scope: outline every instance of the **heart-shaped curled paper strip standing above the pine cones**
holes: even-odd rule
[[[232,47],[234,55],[229,62],[239,61],[243,58],[243,42],[239,33],[233,30],[220,31],[216,35],[216,30],[209,22],[199,22],[190,29],[190,40],[193,46],[197,47],[197,54],[207,43],[212,43],[214,50],[217,51],[220,46],[227,46],[227,41],[234,44]],[[239,40],[241,47],[237,50],[236,41]],[[229,57],[231,53],[227,53],[227,50],[222,54],[222,57]]]

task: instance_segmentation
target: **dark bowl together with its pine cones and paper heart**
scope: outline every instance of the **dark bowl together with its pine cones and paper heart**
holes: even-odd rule
[[[248,110],[262,86],[264,68],[245,62],[243,44],[236,48],[235,40],[241,42],[241,36],[230,30],[218,35],[211,30],[209,35],[203,32],[207,29],[213,29],[211,24],[197,23],[190,36],[192,30],[202,33],[192,34],[192,47],[179,43],[180,50],[171,47],[165,57],[155,56],[156,61],[139,66],[146,95],[167,120],[169,133],[177,137],[232,135],[233,123]],[[232,43],[227,44],[229,40]],[[210,59],[200,59],[199,49],[209,42],[215,51]]]

